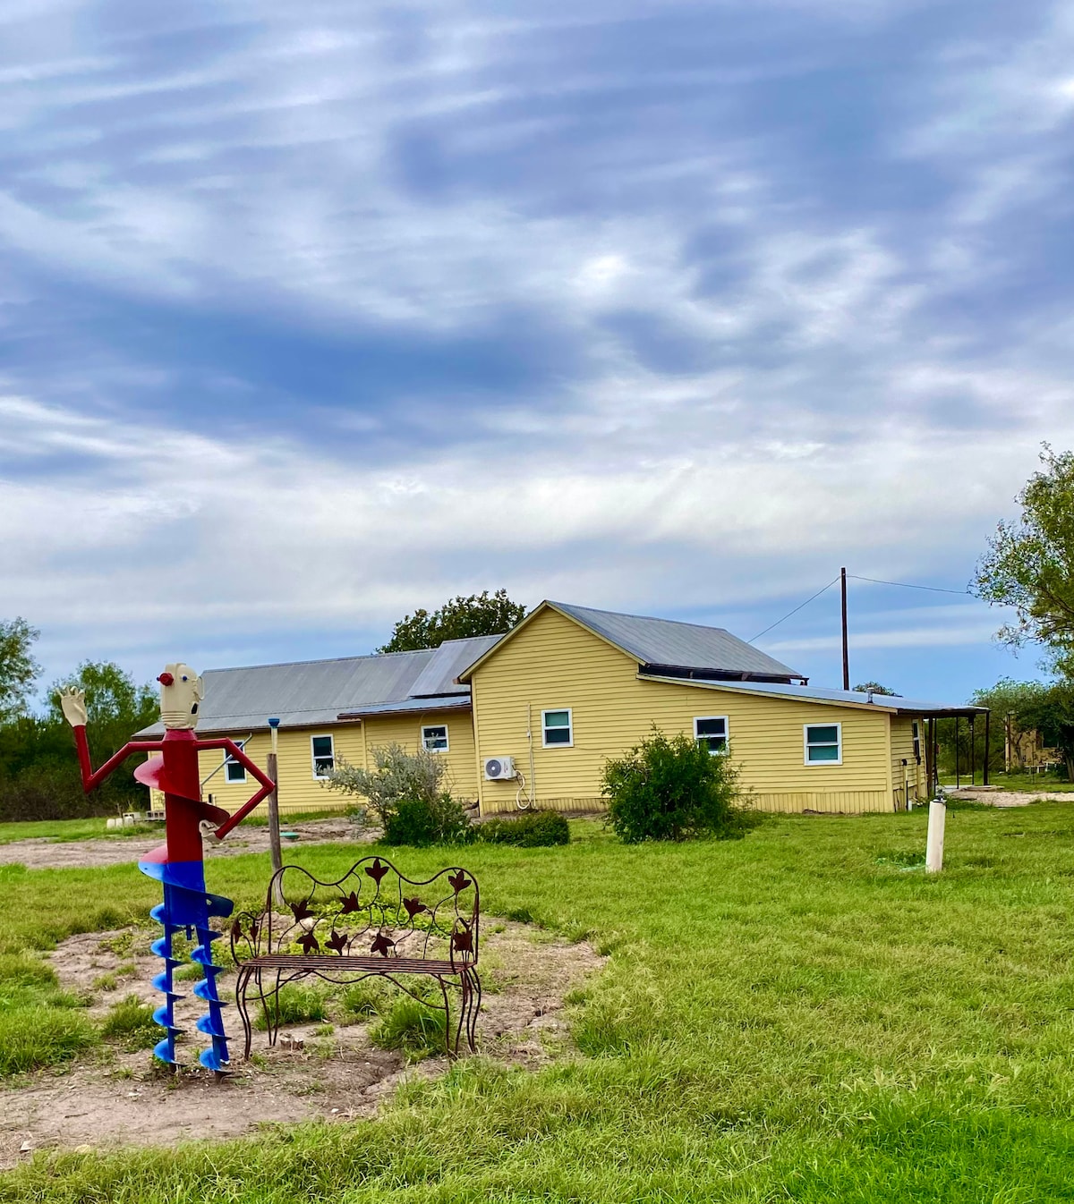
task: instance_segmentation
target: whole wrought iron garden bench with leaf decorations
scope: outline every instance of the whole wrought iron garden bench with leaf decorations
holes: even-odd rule
[[[364,857],[335,883],[301,866],[284,866],[268,884],[265,910],[242,911],[231,925],[231,956],[238,968],[235,1002],[250,1056],[250,986],[265,1009],[268,1044],[279,1033],[279,991],[288,982],[319,978],[356,982],[378,975],[429,1003],[409,975],[439,985],[444,1044],[458,1056],[465,1034],[474,1049],[482,985],[477,975],[480,908],[473,874],[453,866],[415,881],[382,857]],[[452,1034],[449,991],[461,999]]]

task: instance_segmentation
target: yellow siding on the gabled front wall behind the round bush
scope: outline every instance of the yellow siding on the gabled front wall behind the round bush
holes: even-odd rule
[[[760,697],[696,684],[641,681],[637,663],[555,610],[538,614],[474,673],[479,759],[513,756],[538,805],[600,801],[601,769],[654,725],[694,731],[694,718],[726,715],[732,755],[754,804],[773,810],[890,810],[887,712]],[[542,748],[542,710],[571,708],[572,748]],[[807,766],[803,725],[843,726],[843,763]],[[479,781],[482,810],[512,810],[514,783]],[[793,801],[793,804],[792,804]]]

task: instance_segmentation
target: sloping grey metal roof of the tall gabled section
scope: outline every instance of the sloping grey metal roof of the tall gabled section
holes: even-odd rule
[[[643,665],[710,669],[727,673],[765,673],[773,677],[802,677],[722,627],[703,627],[673,619],[648,619],[614,610],[550,602],[557,610],[637,656]]]

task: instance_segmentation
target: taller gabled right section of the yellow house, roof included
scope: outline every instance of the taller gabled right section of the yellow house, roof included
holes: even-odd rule
[[[479,772],[486,814],[517,801],[600,807],[604,760],[654,725],[730,748],[759,809],[890,811],[928,793],[927,720],[974,710],[816,689],[720,628],[559,602],[542,602],[460,680],[479,771],[491,760],[520,775]]]

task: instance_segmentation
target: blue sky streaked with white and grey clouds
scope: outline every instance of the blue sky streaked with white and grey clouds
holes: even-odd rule
[[[1072,64],[1043,0],[5,0],[0,618],[148,677],[964,589],[1074,445]],[[850,606],[855,680],[1034,673]],[[759,643],[838,684],[837,592]]]

